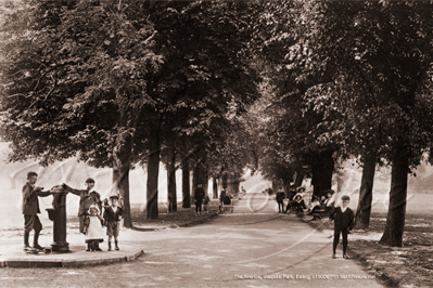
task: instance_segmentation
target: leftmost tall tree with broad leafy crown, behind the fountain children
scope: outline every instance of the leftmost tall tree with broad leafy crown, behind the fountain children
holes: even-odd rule
[[[135,134],[142,108],[154,105],[147,83],[162,63],[142,3],[35,0],[2,32],[1,132],[10,160],[48,165],[79,152],[79,160],[112,167],[131,227]]]

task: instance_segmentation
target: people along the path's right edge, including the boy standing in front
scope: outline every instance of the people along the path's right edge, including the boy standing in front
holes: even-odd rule
[[[307,209],[303,193],[305,192],[304,187],[298,187],[296,189],[296,194],[289,199],[288,206],[284,210],[284,198],[285,194],[282,187],[279,187],[279,191],[276,195],[276,200],[278,202],[278,212],[286,213],[288,210],[292,209],[296,214],[301,215],[305,209]],[[340,241],[340,235],[343,237],[343,258],[348,259],[347,256],[347,235],[349,231],[353,230],[355,224],[355,214],[354,211],[348,207],[351,201],[351,197],[347,195],[343,195],[341,197],[341,205],[335,207],[335,200],[333,198],[334,191],[328,189],[326,192],[327,196],[321,196],[320,198],[314,195],[311,197],[311,204],[306,212],[306,214],[314,214],[318,210],[324,211],[328,214],[329,219],[334,222],[334,239],[332,245],[332,259],[335,259],[336,247]]]

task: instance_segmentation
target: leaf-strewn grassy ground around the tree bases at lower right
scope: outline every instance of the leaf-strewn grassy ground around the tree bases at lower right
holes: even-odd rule
[[[349,256],[390,287],[433,287],[433,215],[406,214],[403,247],[378,243],[385,223],[386,213],[372,213],[368,231],[354,230],[348,235]],[[329,220],[309,224],[332,234],[333,224]]]

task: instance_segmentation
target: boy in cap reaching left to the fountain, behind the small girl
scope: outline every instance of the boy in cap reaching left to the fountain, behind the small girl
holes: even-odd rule
[[[95,205],[99,208],[100,214],[102,213],[102,201],[101,195],[95,192],[94,188],[94,180],[88,178],[86,180],[86,189],[74,189],[66,184],[63,184],[63,188],[79,196],[79,209],[78,209],[78,217],[79,217],[79,232],[82,234],[85,233],[85,220],[88,215],[88,211],[90,206]]]

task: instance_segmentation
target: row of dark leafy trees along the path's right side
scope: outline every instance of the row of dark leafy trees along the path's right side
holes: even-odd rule
[[[320,195],[335,166],[357,158],[357,224],[368,227],[375,166],[392,166],[380,240],[391,246],[402,246],[408,173],[431,157],[432,12],[421,1],[272,1],[263,17],[278,107],[267,110],[264,169],[303,178],[307,168]]]

